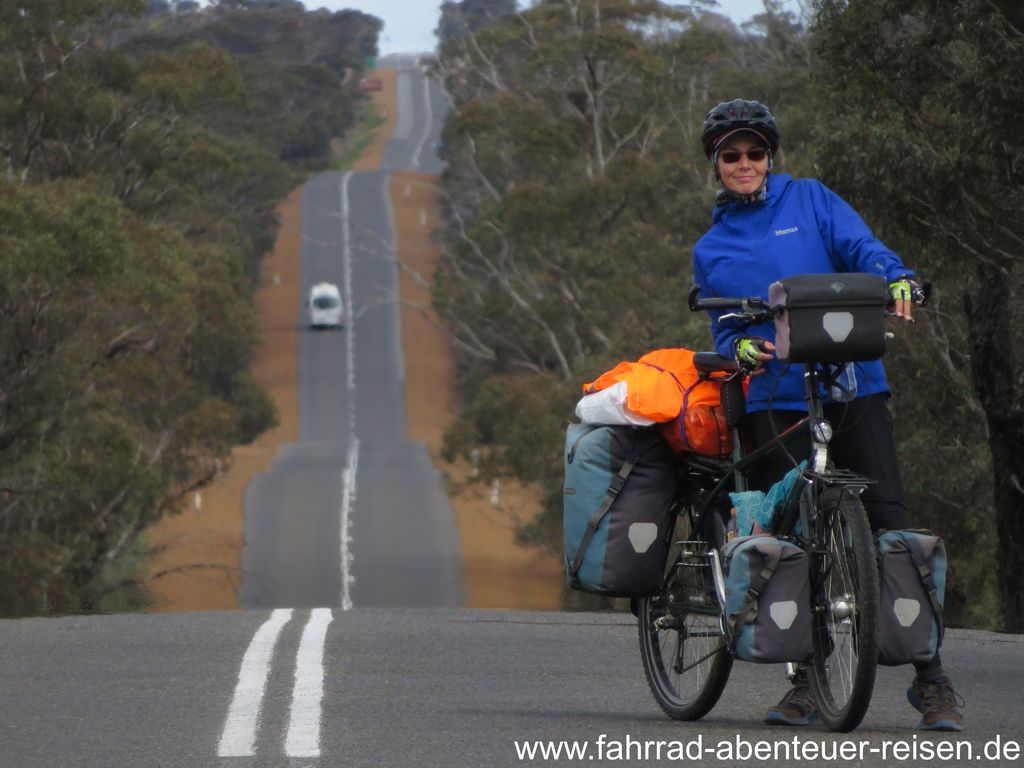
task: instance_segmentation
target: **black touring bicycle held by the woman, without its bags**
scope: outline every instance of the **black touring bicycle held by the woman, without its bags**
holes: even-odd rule
[[[737,310],[723,319],[746,324],[772,317],[767,302],[758,297],[697,296],[694,288],[689,297],[691,311]],[[823,416],[819,385],[835,382],[839,368],[808,364],[808,415],[748,454],[739,431],[748,373],[713,352],[698,352],[693,361],[701,377],[724,377],[722,400],[733,451],[729,459],[687,454],[678,465],[679,492],[673,508],[676,536],[664,586],[636,605],[641,656],[651,692],[662,710],[677,720],[697,720],[718,702],[734,660],[720,557],[726,543],[728,493],[745,490],[752,467],[809,432],[808,466],[772,535],[796,543],[808,554],[813,647],[808,680],[824,724],[834,731],[850,731],[863,719],[874,686],[879,575],[873,538],[860,501],[870,480],[837,469],[828,454],[831,426]]]

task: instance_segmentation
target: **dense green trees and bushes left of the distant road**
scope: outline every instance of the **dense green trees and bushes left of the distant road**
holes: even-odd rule
[[[379,22],[195,5],[0,8],[0,613],[139,604],[142,530],[276,418],[252,289]]]

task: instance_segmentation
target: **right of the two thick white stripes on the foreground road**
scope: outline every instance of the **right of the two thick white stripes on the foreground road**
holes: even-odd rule
[[[313,608],[302,630],[295,663],[295,687],[285,738],[290,758],[318,758],[321,712],[324,701],[324,645],[334,618],[330,608]]]

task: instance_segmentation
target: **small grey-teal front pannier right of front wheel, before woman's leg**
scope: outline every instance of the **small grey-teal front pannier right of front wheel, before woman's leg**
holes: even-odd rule
[[[880,530],[879,664],[932,659],[945,625],[946,548],[930,530]]]

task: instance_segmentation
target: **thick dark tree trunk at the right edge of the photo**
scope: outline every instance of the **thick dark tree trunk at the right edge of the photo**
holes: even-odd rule
[[[1010,281],[991,263],[979,262],[964,293],[971,345],[971,376],[988,426],[996,531],[996,578],[1002,628],[1024,632],[1024,410],[1013,365]],[[969,546],[969,543],[965,543]],[[955,543],[954,543],[955,546]]]

